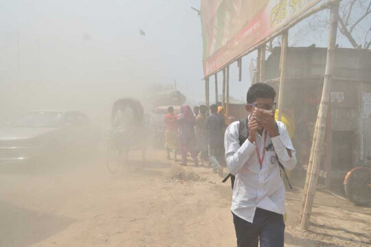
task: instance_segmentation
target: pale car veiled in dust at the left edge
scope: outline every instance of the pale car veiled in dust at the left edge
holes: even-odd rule
[[[80,111],[30,111],[0,128],[0,163],[39,161],[91,150],[99,139],[98,128]]]

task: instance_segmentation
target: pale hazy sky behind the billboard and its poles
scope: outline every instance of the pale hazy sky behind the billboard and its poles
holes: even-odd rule
[[[190,9],[199,5],[199,0],[0,0],[0,111],[92,106],[108,111],[118,97],[174,80],[190,104],[204,100],[201,23]],[[311,43],[309,37],[302,45]],[[254,56],[243,60],[243,82],[237,81],[236,65],[231,67],[232,97],[245,96]],[[212,85],[212,100],[213,92]]]

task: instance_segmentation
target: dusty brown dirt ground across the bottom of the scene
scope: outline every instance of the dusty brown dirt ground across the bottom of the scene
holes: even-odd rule
[[[211,169],[149,150],[113,175],[92,156],[33,172],[1,165],[0,246],[236,246],[232,191]],[[286,246],[370,246],[371,207],[319,187],[300,231],[301,199],[300,186],[286,193]]]

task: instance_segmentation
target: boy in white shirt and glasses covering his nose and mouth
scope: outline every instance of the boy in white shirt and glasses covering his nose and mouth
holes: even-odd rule
[[[238,247],[284,246],[285,187],[278,161],[291,170],[296,157],[286,127],[274,120],[275,97],[268,84],[253,84],[247,91],[247,139],[240,145],[240,121],[225,132],[227,167],[236,176],[232,214]]]

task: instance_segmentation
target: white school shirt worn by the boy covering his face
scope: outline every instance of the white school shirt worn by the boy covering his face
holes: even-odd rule
[[[266,130],[263,130],[262,136],[257,132],[256,145],[247,139],[240,146],[239,121],[229,125],[225,131],[225,159],[229,172],[236,176],[232,196],[232,212],[251,223],[254,220],[257,207],[284,214],[285,189],[280,176],[280,167],[276,161],[276,154],[286,170],[295,167],[296,156],[286,126],[280,121],[277,121],[277,124],[280,135],[271,138]],[[267,143],[264,146],[265,134],[267,134]],[[260,158],[262,158],[263,150],[270,143],[273,143],[274,150],[269,149],[271,151],[265,152],[262,169],[260,169],[256,147],[258,147]],[[291,158],[286,148],[291,150]]]

